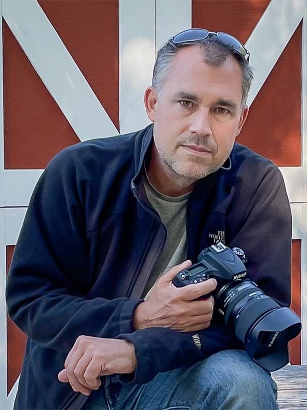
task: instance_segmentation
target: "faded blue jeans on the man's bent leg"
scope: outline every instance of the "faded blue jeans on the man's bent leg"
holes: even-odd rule
[[[109,382],[93,391],[91,410],[278,410],[277,385],[245,351],[215,353],[149,383]]]

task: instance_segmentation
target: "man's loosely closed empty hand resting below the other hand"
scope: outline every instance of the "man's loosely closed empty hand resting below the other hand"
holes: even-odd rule
[[[75,392],[89,396],[101,385],[99,376],[132,373],[137,364],[132,343],[119,339],[79,336],[58,374]]]

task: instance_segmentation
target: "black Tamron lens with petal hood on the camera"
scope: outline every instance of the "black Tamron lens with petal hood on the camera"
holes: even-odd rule
[[[288,308],[281,308],[249,279],[225,284],[217,293],[215,304],[223,313],[228,329],[246,345],[247,352],[255,360],[287,346],[288,341],[300,331],[295,313]],[[279,321],[276,321],[276,313]],[[280,368],[278,364],[273,368],[274,365],[270,361],[268,370]],[[265,367],[263,363],[262,367]]]

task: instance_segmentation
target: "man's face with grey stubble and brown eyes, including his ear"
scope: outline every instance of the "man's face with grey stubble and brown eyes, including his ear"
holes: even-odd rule
[[[248,113],[238,61],[229,56],[213,67],[202,60],[199,46],[179,50],[162,93],[146,90],[160,166],[192,180],[223,165]]]

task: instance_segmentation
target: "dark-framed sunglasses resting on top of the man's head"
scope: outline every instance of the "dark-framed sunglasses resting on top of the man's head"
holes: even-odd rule
[[[244,45],[241,42],[239,42],[239,40],[235,38],[233,35],[223,33],[222,31],[218,31],[217,33],[215,33],[214,31],[208,31],[206,29],[188,29],[174,35],[170,39],[170,41],[174,45],[177,45],[184,43],[192,43],[198,40],[205,40],[206,38],[211,36],[216,36],[220,40],[220,42],[223,43],[225,46],[231,46],[237,54],[245,58],[247,63],[249,62],[250,53],[244,47]]]

